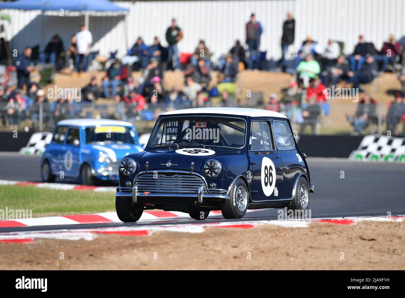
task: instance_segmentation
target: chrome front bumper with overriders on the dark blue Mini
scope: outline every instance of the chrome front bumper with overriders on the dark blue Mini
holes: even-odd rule
[[[198,204],[202,204],[204,199],[229,199],[226,189],[208,189],[202,186],[198,187],[196,193],[139,193],[138,187],[117,187],[115,191],[116,197],[132,197],[132,202],[137,203],[139,197],[195,197]]]

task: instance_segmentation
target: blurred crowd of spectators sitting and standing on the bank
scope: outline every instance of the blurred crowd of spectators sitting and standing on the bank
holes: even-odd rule
[[[70,117],[86,117],[83,108],[94,105],[99,98],[112,99],[117,109],[104,111],[102,116],[124,120],[153,119],[153,111],[158,109],[181,109],[186,107],[237,107],[236,80],[244,69],[275,69],[292,73],[290,86],[283,91],[280,99],[271,94],[268,101],[258,101],[258,107],[286,114],[301,131],[319,133],[322,116],[330,113],[328,90],[332,86],[351,87],[353,96],[360,96],[355,115],[347,115],[354,127],[354,133],[363,133],[377,122],[377,101],[362,89],[386,71],[398,72],[401,92],[395,96],[386,115],[387,129],[399,133],[398,124],[404,122],[405,57],[403,45],[393,34],[378,50],[365,36],[358,36],[358,44],[351,55],[343,54],[344,44],[330,39],[325,48],[307,36],[301,47],[293,49],[296,22],[291,13],[283,23],[281,36],[281,58],[277,62],[267,61],[265,52],[260,51],[263,28],[254,13],[245,26],[245,43],[237,40],[218,61],[212,61],[209,45],[200,40],[192,53],[179,52],[178,43],[183,39],[183,30],[172,19],[165,34],[167,47],[163,47],[157,36],[147,45],[142,36],[122,59],[115,54],[109,60],[101,81],[93,76],[81,88],[80,102],[71,94],[62,94],[56,101],[49,102],[38,84],[30,81],[37,69],[37,62],[53,64],[55,69],[83,76],[87,72],[92,57],[92,33],[85,24],[80,24],[79,32],[70,38],[70,45],[64,48],[58,34],[52,36],[38,59],[32,59],[32,48],[26,47],[16,63],[17,88],[8,84],[0,87],[0,116],[3,126],[18,127],[27,119],[34,125],[39,120],[55,123]],[[0,56],[4,56],[4,39],[1,41]],[[294,52],[293,54],[291,54]],[[1,56],[2,63],[6,57]],[[105,62],[105,61],[104,61]],[[273,63],[273,64],[272,64]],[[105,63],[107,65],[107,63]],[[273,66],[271,66],[273,65]],[[184,88],[166,89],[166,70],[181,71],[184,75]],[[132,71],[139,71],[134,78]],[[213,72],[215,71],[215,72]],[[213,80],[213,75],[216,78]],[[217,84],[213,84],[216,81]],[[249,99],[248,99],[249,100]]]

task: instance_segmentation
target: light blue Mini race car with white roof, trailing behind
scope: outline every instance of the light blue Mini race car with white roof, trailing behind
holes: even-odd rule
[[[91,185],[95,178],[118,180],[118,164],[126,155],[142,151],[138,133],[130,122],[73,119],[56,124],[51,143],[41,159],[44,182],[79,178]]]

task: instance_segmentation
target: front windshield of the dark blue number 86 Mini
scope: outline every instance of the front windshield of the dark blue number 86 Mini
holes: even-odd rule
[[[246,122],[239,118],[187,116],[163,118],[151,137],[151,146],[177,144],[242,148]]]

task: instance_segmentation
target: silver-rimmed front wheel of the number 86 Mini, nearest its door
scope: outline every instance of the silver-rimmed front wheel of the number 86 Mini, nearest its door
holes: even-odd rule
[[[225,204],[222,207],[222,216],[226,219],[242,218],[249,204],[249,195],[245,181],[241,178],[236,180],[230,193],[230,199],[225,199]]]

